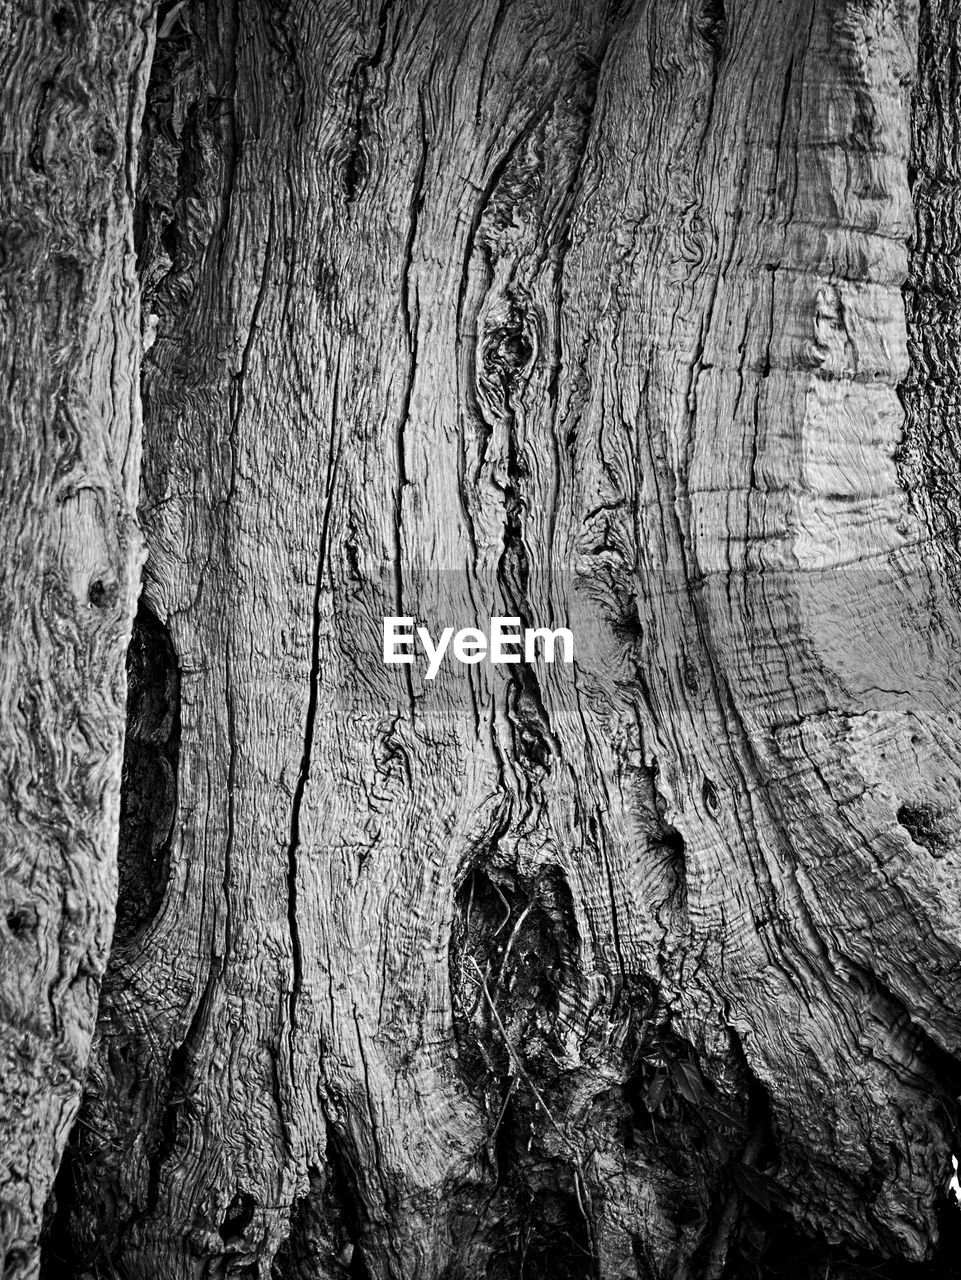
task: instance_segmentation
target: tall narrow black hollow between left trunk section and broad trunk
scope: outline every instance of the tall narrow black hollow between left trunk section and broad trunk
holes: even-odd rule
[[[141,604],[127,653],[115,937],[131,938],[164,897],[177,810],[180,680],[166,627]]]

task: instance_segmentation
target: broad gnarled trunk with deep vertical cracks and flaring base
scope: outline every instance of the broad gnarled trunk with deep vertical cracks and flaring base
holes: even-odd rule
[[[161,10],[51,1277],[949,1274],[960,24]]]

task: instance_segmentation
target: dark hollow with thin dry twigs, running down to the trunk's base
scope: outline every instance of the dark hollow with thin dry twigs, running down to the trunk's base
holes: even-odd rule
[[[560,1020],[576,951],[559,868],[468,873],[457,895],[450,983],[458,1068],[490,1117],[498,1207],[485,1213],[488,1280],[596,1275],[577,1155],[555,1149],[555,1117],[569,1103]]]

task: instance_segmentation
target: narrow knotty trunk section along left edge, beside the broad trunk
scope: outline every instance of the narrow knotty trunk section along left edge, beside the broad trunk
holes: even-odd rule
[[[147,4],[0,5],[0,1268],[36,1274],[114,927],[142,562]]]

